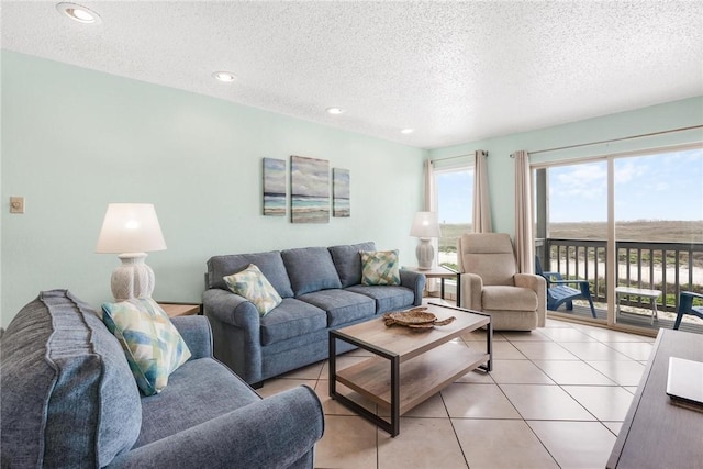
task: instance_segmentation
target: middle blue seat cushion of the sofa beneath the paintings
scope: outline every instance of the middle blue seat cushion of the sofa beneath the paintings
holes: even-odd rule
[[[346,290],[321,290],[303,294],[302,301],[327,312],[327,326],[335,327],[376,314],[376,301]]]

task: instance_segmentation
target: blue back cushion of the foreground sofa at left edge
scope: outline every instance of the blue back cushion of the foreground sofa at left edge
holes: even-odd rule
[[[122,347],[66,290],[2,336],[2,467],[103,467],[136,442],[142,404]]]

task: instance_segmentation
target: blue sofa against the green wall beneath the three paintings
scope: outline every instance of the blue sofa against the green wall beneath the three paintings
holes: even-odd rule
[[[253,386],[327,358],[328,333],[388,311],[422,303],[425,276],[400,270],[400,286],[364,286],[360,250],[372,242],[305,247],[208,260],[203,313],[212,324],[214,355]],[[223,277],[256,265],[283,299],[264,317],[227,289]],[[339,353],[347,344],[337,347]]]

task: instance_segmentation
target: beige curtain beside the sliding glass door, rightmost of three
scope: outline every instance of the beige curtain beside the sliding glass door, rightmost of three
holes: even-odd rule
[[[535,248],[532,237],[532,185],[529,177],[529,156],[520,150],[515,158],[515,255],[517,271],[535,272]]]

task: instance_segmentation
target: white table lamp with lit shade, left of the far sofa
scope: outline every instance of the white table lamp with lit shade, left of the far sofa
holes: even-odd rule
[[[154,270],[144,259],[147,252],[164,249],[166,242],[153,204],[108,204],[96,253],[119,254],[122,260],[110,281],[115,301],[152,297]]]

